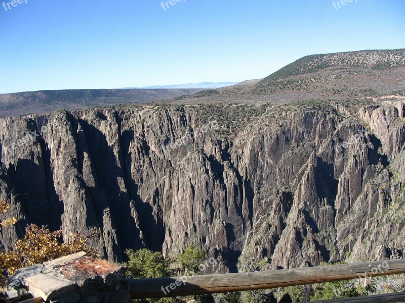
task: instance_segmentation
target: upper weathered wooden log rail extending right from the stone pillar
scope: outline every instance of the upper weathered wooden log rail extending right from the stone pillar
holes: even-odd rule
[[[159,298],[277,288],[405,273],[405,260],[361,262],[253,273],[128,280],[131,298]]]

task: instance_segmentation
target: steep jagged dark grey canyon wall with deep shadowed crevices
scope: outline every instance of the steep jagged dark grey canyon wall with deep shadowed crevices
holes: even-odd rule
[[[193,243],[220,262],[209,272],[399,258],[404,113],[403,102],[269,107],[233,139],[201,130],[212,121],[187,107],[4,118],[0,197],[19,223],[0,240],[12,247],[28,222],[65,238],[96,230],[112,261]]]

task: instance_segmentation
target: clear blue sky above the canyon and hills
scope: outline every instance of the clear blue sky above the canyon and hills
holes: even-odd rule
[[[405,48],[403,0],[9,2],[0,93],[243,81],[306,55]]]

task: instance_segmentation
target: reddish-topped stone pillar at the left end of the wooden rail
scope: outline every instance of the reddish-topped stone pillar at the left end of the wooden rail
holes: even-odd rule
[[[86,252],[19,269],[7,281],[9,299],[30,295],[46,302],[129,303],[126,268]]]

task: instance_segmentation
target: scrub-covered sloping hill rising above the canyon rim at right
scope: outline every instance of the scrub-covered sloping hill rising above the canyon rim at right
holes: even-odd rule
[[[206,90],[175,104],[286,104],[308,99],[349,100],[405,96],[405,50],[312,55],[262,80]]]

